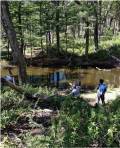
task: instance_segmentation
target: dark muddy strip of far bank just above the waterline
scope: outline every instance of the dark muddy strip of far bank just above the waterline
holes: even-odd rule
[[[109,58],[107,60],[102,59],[92,59],[81,56],[70,56],[70,57],[35,57],[32,59],[26,59],[27,65],[30,66],[42,66],[42,67],[81,67],[81,68],[88,68],[88,67],[99,67],[99,68],[115,68],[120,67],[120,62],[116,59]]]

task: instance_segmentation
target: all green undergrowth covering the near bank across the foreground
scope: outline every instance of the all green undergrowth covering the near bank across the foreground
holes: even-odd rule
[[[39,90],[39,88],[34,89],[31,86],[26,88],[30,92],[38,92]],[[10,109],[2,109],[2,129],[9,127],[8,125],[17,125],[22,114],[29,116],[28,124],[31,129],[35,127],[41,129],[41,124],[38,125],[32,119],[32,104],[30,104],[30,101],[26,105],[25,100],[20,99],[22,98],[21,95],[10,91],[8,88],[6,89],[7,91],[2,92],[2,97],[4,97],[2,106],[9,108],[10,102],[14,102],[14,104]],[[47,94],[50,95],[50,92],[53,93],[54,90],[50,91],[46,88],[40,88],[40,92],[48,92]],[[13,96],[12,98],[11,95]],[[60,103],[59,97],[57,99],[59,100],[57,103]],[[27,147],[120,146],[120,98],[109,102],[105,106],[95,108],[79,97],[65,96],[63,99],[61,97],[61,100],[61,108],[57,116],[52,119],[52,125],[46,129],[46,134],[33,136],[31,131],[28,130],[26,134],[20,133],[17,135]],[[14,142],[11,143],[5,133],[2,135],[4,146],[15,146],[16,144]]]

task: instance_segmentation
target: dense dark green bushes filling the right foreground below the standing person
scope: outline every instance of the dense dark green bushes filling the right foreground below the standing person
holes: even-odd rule
[[[80,98],[66,98],[52,132],[54,133],[53,145],[58,144],[58,147],[86,147],[93,144],[105,147],[118,146],[119,104],[118,98],[104,107],[91,108]]]

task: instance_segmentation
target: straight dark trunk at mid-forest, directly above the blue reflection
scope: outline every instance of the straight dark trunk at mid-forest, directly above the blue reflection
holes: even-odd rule
[[[56,44],[57,44],[57,50],[60,52],[60,28],[59,28],[59,1],[56,1]]]

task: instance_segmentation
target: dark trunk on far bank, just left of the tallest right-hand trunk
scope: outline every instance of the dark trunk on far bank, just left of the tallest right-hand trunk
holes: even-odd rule
[[[86,39],[85,56],[86,56],[86,60],[88,60],[88,51],[89,51],[89,21],[86,21],[85,39]]]

